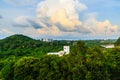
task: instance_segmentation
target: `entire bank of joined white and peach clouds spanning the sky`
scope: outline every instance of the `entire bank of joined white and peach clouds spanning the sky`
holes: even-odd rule
[[[108,19],[97,20],[96,13],[81,19],[81,13],[87,8],[79,0],[42,0],[37,5],[37,19],[19,16],[14,19],[13,26],[27,27],[24,34],[47,37],[79,38],[118,33],[117,25],[112,25]]]

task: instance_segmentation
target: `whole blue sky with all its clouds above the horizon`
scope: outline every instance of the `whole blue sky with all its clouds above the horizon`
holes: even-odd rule
[[[117,39],[120,0],[0,0],[0,39]]]

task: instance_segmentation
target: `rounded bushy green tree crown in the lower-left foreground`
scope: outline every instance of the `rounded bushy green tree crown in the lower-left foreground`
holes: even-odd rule
[[[39,59],[23,57],[14,65],[14,80],[36,80],[39,75]]]

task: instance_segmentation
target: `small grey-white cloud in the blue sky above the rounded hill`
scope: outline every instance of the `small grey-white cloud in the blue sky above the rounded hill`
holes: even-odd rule
[[[35,29],[42,28],[36,20],[29,18],[28,16],[19,16],[13,21],[14,27],[33,27]]]

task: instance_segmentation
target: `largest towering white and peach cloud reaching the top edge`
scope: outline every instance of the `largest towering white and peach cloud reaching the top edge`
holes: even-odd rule
[[[86,9],[87,6],[78,0],[44,0],[38,4],[37,17],[43,27],[54,26],[63,32],[82,32],[79,13]]]

